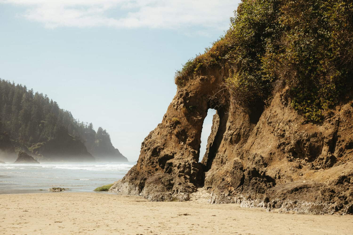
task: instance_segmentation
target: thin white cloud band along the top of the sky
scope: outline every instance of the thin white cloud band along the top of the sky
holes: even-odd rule
[[[56,27],[161,28],[200,26],[226,29],[237,8],[234,0],[0,0],[24,6],[28,20]]]

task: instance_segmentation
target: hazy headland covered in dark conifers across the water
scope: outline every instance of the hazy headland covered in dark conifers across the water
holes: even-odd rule
[[[16,149],[42,161],[127,161],[103,128],[95,131],[47,95],[1,79],[0,133],[3,155]]]

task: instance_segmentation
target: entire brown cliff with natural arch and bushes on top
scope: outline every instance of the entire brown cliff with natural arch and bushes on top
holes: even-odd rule
[[[353,213],[352,12],[342,0],[243,0],[226,35],[177,72],[162,123],[110,191]]]

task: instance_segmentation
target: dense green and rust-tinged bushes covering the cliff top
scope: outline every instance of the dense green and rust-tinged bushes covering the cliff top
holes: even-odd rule
[[[231,62],[225,86],[233,101],[264,102],[285,83],[293,108],[322,122],[352,88],[352,35],[351,0],[243,0],[226,35],[188,61],[175,81],[184,86],[202,68]]]

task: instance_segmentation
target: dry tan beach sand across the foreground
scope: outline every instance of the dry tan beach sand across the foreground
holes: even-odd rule
[[[238,204],[149,202],[107,193],[0,195],[0,234],[352,234],[353,216],[297,215]]]

